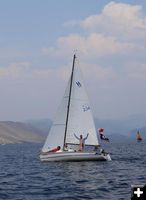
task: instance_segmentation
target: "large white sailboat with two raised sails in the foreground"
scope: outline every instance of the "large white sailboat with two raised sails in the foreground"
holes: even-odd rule
[[[88,137],[79,150],[80,135]],[[76,137],[75,137],[76,136]],[[57,147],[57,148],[56,148]],[[59,149],[58,149],[59,147]],[[72,72],[56,117],[40,153],[41,161],[106,161],[108,153],[99,150],[95,124],[76,55]],[[54,150],[55,148],[55,150]],[[58,149],[58,151],[57,151]],[[101,153],[100,153],[101,152]]]

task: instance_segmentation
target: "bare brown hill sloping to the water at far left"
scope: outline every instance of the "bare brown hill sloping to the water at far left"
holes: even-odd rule
[[[45,135],[30,124],[22,122],[0,122],[0,144],[21,142],[43,142]]]

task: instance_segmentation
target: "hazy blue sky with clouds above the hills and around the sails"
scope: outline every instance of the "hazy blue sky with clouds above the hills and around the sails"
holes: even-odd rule
[[[0,120],[53,118],[76,49],[96,117],[146,113],[145,0],[0,0]]]

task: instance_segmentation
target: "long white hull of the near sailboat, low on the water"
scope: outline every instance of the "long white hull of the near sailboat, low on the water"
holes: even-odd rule
[[[41,161],[110,161],[110,155],[95,152],[58,152],[40,155]]]

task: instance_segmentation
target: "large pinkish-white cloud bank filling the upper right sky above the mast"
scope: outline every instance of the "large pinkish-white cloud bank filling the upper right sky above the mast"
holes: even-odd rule
[[[104,6],[100,14],[65,24],[79,25],[84,32],[59,37],[55,46],[42,48],[44,55],[68,58],[76,49],[86,59],[145,55],[146,15],[141,5],[112,1]]]

